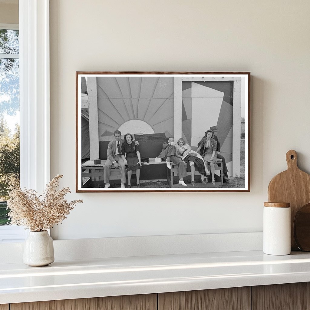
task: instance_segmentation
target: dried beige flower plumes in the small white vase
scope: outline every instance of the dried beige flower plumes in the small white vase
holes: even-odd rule
[[[68,202],[64,199],[70,193],[69,187],[56,189],[59,180],[63,175],[56,175],[47,184],[43,195],[38,196],[38,192],[33,189],[20,187],[11,189],[10,199],[7,201],[7,208],[11,211],[11,225],[26,226],[33,232],[42,232],[66,219],[73,207],[83,200],[73,200]]]

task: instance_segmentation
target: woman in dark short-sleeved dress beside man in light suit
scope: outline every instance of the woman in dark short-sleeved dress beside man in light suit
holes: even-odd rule
[[[122,144],[122,159],[124,160],[125,165],[127,166],[127,176],[128,176],[128,185],[127,187],[131,187],[131,174],[132,170],[136,170],[137,176],[137,187],[140,187],[140,168],[141,164],[141,156],[139,145],[135,145],[133,142],[133,136],[131,134],[126,134],[124,136],[125,141]],[[126,158],[125,158],[126,153]]]

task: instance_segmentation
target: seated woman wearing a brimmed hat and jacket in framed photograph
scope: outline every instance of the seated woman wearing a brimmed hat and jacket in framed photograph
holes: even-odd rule
[[[215,186],[215,162],[217,158],[217,153],[216,153],[216,146],[217,143],[215,139],[212,138],[212,135],[214,134],[214,131],[211,129],[208,129],[206,131],[206,137],[202,138],[201,144],[199,148],[197,148],[197,152],[200,151],[202,148],[202,157],[205,162],[210,163],[210,169],[211,169],[211,174],[212,174],[212,185]]]

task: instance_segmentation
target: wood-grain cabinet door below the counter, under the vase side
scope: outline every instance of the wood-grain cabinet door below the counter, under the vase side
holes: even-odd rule
[[[157,310],[157,294],[11,303],[11,310]]]

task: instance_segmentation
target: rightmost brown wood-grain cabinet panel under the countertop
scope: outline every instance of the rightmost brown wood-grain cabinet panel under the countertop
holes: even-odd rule
[[[252,310],[310,309],[310,283],[252,286]]]

